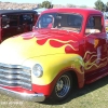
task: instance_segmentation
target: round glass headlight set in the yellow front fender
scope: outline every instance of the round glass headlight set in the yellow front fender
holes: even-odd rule
[[[32,67],[32,73],[36,76],[36,77],[42,77],[43,75],[43,68],[41,67],[41,65],[39,64],[36,64],[33,67]]]

